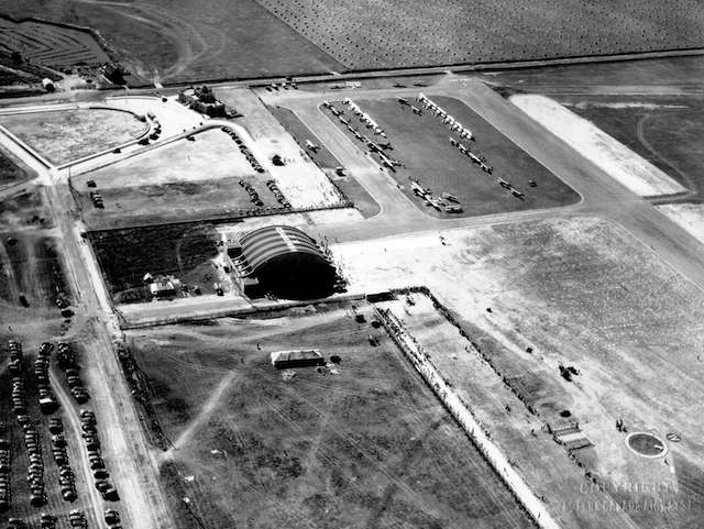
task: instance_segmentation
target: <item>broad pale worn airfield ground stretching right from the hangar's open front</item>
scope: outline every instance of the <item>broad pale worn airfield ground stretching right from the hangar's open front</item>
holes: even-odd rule
[[[675,494],[650,491],[639,499],[688,507],[629,513],[641,527],[695,526],[704,516],[704,429],[691,410],[704,398],[704,295],[650,247],[598,219],[442,235],[332,252],[350,288],[427,285],[543,420],[568,410],[580,422],[594,444],[582,461],[593,476],[609,486],[675,483]],[[560,365],[579,375],[568,382]],[[682,441],[669,443],[667,463],[642,460],[625,448],[618,418],[629,431],[679,432]]]

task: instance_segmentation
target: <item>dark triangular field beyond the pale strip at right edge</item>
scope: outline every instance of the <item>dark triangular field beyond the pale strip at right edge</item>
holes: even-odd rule
[[[704,198],[704,101],[686,96],[557,99]]]

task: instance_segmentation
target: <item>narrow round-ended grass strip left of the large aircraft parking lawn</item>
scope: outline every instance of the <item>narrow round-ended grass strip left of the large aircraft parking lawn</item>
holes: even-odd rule
[[[294,137],[294,140],[296,140],[296,143],[298,143],[300,148],[306,152],[306,155],[312,159],[318,167],[324,170],[338,189],[340,189],[342,194],[354,203],[354,207],[362,213],[362,216],[373,217],[378,213],[378,203],[376,203],[371,195],[366,192],[353,176],[339,176],[336,174],[334,168],[341,166],[340,162],[326,147],[324,142],[321,142],[293,111],[282,107],[270,107],[268,110],[280,122],[282,126],[284,126],[284,129],[286,129],[286,131]],[[308,140],[319,146],[316,152],[312,152],[307,147],[306,141]]]

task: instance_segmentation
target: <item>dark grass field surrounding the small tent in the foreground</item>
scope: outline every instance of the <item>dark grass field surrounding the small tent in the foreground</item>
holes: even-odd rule
[[[306,312],[128,333],[183,527],[530,527],[369,307]],[[275,370],[292,344],[340,363]]]

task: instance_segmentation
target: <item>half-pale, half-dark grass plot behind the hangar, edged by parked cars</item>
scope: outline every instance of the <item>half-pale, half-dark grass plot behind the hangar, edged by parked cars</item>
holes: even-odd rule
[[[266,187],[271,179],[252,168],[230,136],[210,130],[75,176],[72,186],[88,225],[101,230],[248,214],[257,207],[240,180],[256,190],[263,209],[280,209]],[[91,191],[100,192],[105,209],[95,208]]]

